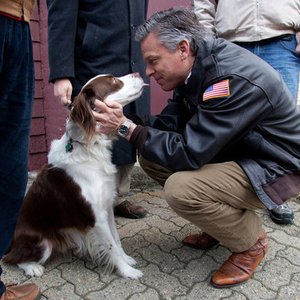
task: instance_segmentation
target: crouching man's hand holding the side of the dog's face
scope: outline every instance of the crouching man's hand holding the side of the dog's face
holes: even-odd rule
[[[126,120],[122,105],[115,101],[104,103],[100,100],[95,100],[94,104],[96,131],[104,134],[116,134],[119,126]]]

